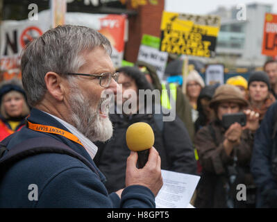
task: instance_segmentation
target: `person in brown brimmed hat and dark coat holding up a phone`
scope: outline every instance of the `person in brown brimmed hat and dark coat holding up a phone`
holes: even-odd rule
[[[245,127],[233,123],[226,129],[221,122],[224,114],[240,112],[247,105],[240,89],[233,85],[221,85],[212,96],[210,108],[215,110],[216,118],[194,138],[203,167],[195,207],[255,207],[249,163],[253,135],[259,126],[258,113],[244,110]],[[238,184],[246,185],[246,200],[237,200]]]

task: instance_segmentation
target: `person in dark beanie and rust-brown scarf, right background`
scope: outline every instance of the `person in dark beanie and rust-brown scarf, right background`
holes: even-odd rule
[[[265,116],[269,106],[276,101],[270,92],[269,77],[264,71],[255,71],[249,76],[249,94],[246,99],[250,103],[251,110],[260,114],[260,122]]]

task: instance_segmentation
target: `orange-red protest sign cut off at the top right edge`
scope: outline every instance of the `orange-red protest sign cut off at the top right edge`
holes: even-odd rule
[[[277,15],[266,13],[262,54],[277,56]]]

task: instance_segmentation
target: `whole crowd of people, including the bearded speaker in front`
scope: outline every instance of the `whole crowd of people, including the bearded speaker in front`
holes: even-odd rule
[[[0,85],[0,207],[155,207],[161,169],[201,176],[195,207],[277,207],[277,60],[224,85],[205,85],[191,70],[183,92],[146,62],[115,70],[110,51],[106,37],[72,25],[24,49],[23,85]],[[115,94],[110,114],[105,89]],[[139,99],[141,90],[154,89],[160,100],[152,98],[151,110],[176,112],[174,120],[163,121],[165,113],[148,112],[147,98]],[[119,90],[135,96],[117,100]],[[129,103],[135,108],[119,109]],[[224,115],[238,112],[245,126],[224,127]],[[138,170],[125,135],[141,121],[153,128],[155,142]],[[37,201],[27,198],[30,184],[38,187]],[[245,185],[246,199],[237,199],[237,185]]]

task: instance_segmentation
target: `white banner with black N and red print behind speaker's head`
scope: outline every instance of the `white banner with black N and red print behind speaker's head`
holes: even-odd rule
[[[51,28],[49,10],[38,13],[37,20],[3,21],[0,26],[0,81],[21,78],[20,53],[28,44]],[[67,12],[65,24],[94,28],[105,35],[112,44],[112,62],[121,66],[124,54],[126,16]]]

